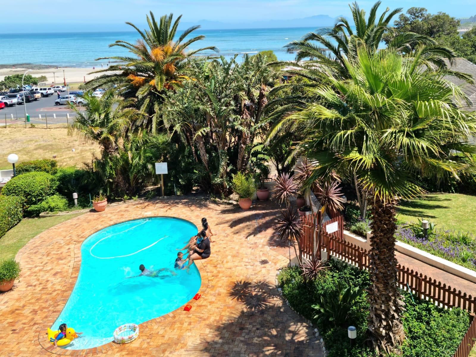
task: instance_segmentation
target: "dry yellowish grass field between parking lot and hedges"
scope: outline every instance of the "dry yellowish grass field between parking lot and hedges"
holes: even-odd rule
[[[68,135],[66,124],[48,125],[35,124],[34,128],[22,125],[0,128],[0,170],[11,169],[7,155],[15,153],[22,161],[35,159],[56,160],[60,166],[82,167],[83,162],[90,162],[92,153],[99,154],[99,146],[95,143],[85,143],[82,139]],[[75,149],[75,151],[71,151]]]

